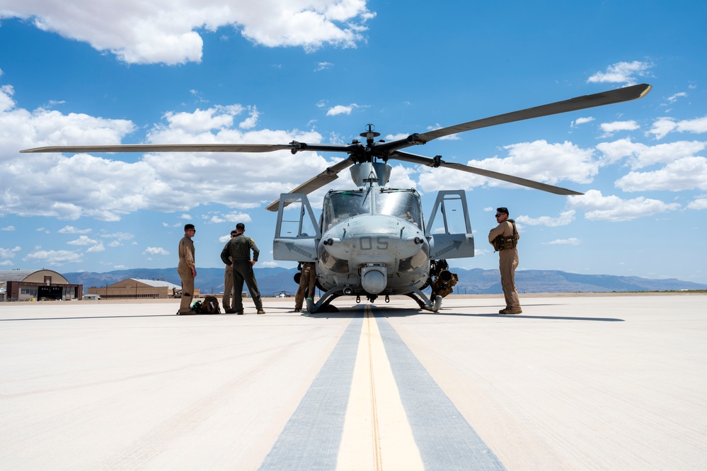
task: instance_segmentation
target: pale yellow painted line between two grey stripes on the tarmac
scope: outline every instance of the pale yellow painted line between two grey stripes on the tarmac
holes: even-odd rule
[[[369,305],[365,307],[336,469],[424,469]]]

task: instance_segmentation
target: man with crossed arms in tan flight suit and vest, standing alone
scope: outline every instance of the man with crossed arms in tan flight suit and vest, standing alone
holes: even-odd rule
[[[498,251],[498,268],[501,272],[501,286],[506,299],[506,307],[498,314],[520,314],[523,312],[515,288],[515,268],[518,266],[518,239],[520,234],[515,228],[515,221],[508,219],[508,208],[496,209],[498,226],[488,233],[488,242]]]

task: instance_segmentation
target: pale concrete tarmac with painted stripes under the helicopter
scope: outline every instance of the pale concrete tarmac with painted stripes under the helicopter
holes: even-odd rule
[[[0,303],[0,469],[707,469],[707,295],[521,303]]]

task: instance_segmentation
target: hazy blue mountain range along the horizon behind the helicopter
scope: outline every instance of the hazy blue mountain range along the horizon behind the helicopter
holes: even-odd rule
[[[294,283],[296,268],[255,268],[255,278],[263,296],[275,296],[279,293],[293,294],[297,291]],[[473,268],[464,270],[453,268],[459,276],[459,283],[454,287],[455,294],[499,294],[502,293],[498,270]],[[70,283],[84,285],[87,288],[111,285],[125,278],[164,280],[180,285],[176,268],[134,268],[106,273],[88,271],[63,273]],[[707,285],[691,283],[676,278],[653,280],[638,276],[580,275],[556,270],[521,270],[515,274],[519,293],[606,293],[627,291],[677,291],[707,290]],[[195,288],[202,294],[220,293],[224,290],[223,268],[198,268]],[[243,289],[246,289],[245,287]],[[427,290],[429,291],[429,290]]]

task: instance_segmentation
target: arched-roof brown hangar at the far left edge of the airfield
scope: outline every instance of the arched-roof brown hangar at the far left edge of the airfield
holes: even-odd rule
[[[0,271],[0,301],[80,300],[84,286],[53,270]]]

